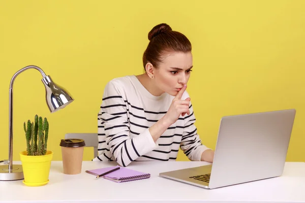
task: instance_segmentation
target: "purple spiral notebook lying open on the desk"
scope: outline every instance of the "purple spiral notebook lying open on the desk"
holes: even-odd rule
[[[103,178],[117,182],[117,183],[150,178],[150,174],[138,172],[138,171],[131,170],[129,168],[121,167],[118,165],[112,166],[112,167],[98,168],[98,169],[94,169],[94,170],[87,170],[85,172],[88,174],[98,176],[98,175],[103,174],[107,171],[110,171],[116,167],[120,167],[119,170],[111,172],[111,173],[103,176]]]

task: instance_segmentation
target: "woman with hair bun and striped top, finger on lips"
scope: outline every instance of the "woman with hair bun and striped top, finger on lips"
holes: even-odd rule
[[[93,160],[175,160],[179,147],[194,161],[212,162],[202,145],[186,91],[193,67],[192,46],[165,23],[148,33],[145,73],[107,83],[98,114],[99,156]]]

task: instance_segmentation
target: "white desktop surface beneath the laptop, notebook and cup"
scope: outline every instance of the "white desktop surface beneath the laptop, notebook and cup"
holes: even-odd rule
[[[281,177],[212,190],[159,177],[160,172],[204,164],[207,163],[132,162],[129,168],[150,173],[151,177],[115,183],[96,179],[85,170],[116,165],[116,162],[84,161],[81,174],[65,175],[62,162],[53,161],[50,182],[45,186],[28,187],[22,181],[0,181],[0,202],[305,202],[304,162],[287,162]]]

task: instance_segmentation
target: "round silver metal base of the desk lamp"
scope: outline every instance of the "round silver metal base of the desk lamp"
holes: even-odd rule
[[[22,165],[13,164],[13,170],[9,173],[9,165],[0,165],[0,181],[16,181],[22,180]]]

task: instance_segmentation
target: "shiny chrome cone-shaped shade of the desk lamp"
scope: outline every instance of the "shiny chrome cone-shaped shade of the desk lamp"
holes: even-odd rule
[[[55,84],[50,76],[44,77],[42,82],[46,88],[46,101],[51,113],[65,108],[74,100],[69,92]]]

